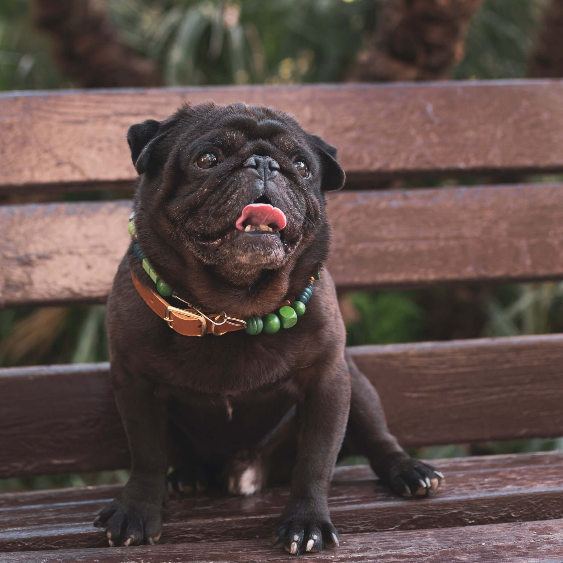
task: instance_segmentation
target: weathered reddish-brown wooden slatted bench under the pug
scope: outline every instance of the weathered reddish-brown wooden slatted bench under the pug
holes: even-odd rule
[[[563,278],[563,82],[175,88],[0,95],[0,306],[103,302],[128,243],[128,201],[32,203],[129,189],[127,127],[181,102],[275,105],[339,148],[331,195],[339,289]],[[489,185],[374,190],[397,178]],[[55,197],[55,195],[54,195]],[[563,435],[563,335],[352,348],[404,446]],[[424,419],[425,426],[418,421]],[[108,364],[0,370],[0,477],[128,467]],[[563,453],[447,459],[440,491],[405,501],[367,467],[330,493],[342,534],[322,561],[563,561]],[[171,499],[156,546],[92,528],[116,486],[0,495],[0,562],[269,561],[288,490]],[[64,550],[64,551],[60,551]]]

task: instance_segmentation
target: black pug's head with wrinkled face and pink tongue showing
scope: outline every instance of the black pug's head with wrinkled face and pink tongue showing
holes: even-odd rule
[[[304,254],[326,258],[324,192],[342,187],[344,172],[336,149],[289,115],[185,105],[132,126],[127,140],[141,176],[137,232],[157,266],[167,246],[186,265],[242,286]]]

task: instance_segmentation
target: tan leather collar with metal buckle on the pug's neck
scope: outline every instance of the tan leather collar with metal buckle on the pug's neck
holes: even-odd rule
[[[159,296],[156,291],[152,291],[141,285],[139,280],[131,272],[131,279],[135,285],[139,295],[156,314],[165,320],[169,327],[184,336],[205,336],[206,334],[215,334],[221,336],[233,330],[241,330],[245,328],[246,323],[239,319],[228,317],[224,312],[216,314],[204,314],[197,309],[179,309],[173,307]]]

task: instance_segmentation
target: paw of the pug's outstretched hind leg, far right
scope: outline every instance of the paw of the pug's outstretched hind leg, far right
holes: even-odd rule
[[[427,497],[434,493],[444,475],[428,463],[405,455],[393,455],[388,459],[382,479],[399,497]]]

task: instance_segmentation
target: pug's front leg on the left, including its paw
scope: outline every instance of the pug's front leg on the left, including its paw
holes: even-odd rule
[[[154,386],[112,364],[116,402],[131,452],[131,477],[121,494],[94,520],[110,546],[154,543],[162,531],[166,501],[166,409]]]

